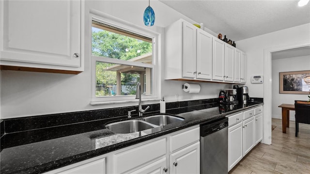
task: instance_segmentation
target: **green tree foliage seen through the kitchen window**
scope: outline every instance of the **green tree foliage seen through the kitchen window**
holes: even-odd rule
[[[94,56],[129,60],[152,52],[152,43],[121,34],[94,29],[92,35],[92,54]],[[96,85],[98,88],[100,87],[100,89],[96,89],[96,96],[109,96],[112,93],[111,86],[116,86],[116,72],[105,71],[107,67],[112,65],[114,64],[96,62]],[[139,74],[122,73],[121,83],[130,88],[128,88],[130,94],[135,94],[136,91],[133,86],[136,85],[139,78]],[[115,93],[116,91],[113,92]]]

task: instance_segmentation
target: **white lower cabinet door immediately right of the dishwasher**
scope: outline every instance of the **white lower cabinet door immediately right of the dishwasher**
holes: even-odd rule
[[[228,171],[243,157],[242,122],[228,128]]]

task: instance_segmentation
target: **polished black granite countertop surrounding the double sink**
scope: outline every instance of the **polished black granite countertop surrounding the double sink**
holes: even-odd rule
[[[1,137],[0,173],[44,173],[261,104],[263,102],[250,102],[233,107],[179,108],[167,114],[184,117],[184,121],[144,130],[143,133],[113,133],[105,128],[106,122],[94,120],[4,134]]]

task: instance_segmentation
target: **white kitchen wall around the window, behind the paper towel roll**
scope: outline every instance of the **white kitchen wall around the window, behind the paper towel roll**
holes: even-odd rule
[[[155,11],[155,26],[145,27],[143,24],[143,12],[148,1],[133,0],[94,0],[85,1],[85,22],[89,21],[90,9],[95,9],[106,14],[121,18],[133,25],[153,30],[161,34],[161,43],[164,43],[164,27],[170,23],[183,18],[189,22],[197,23],[188,17],[174,11],[159,1],[151,1]],[[114,105],[90,105],[91,98],[91,69],[89,51],[89,39],[87,27],[85,27],[85,71],[78,75],[57,74],[57,73],[35,73],[1,71],[1,111],[0,118],[14,118],[22,116],[36,116],[64,112],[102,109],[118,106],[136,105],[137,103],[124,103]],[[208,30],[208,29],[205,29]],[[215,33],[211,32],[213,35]],[[160,58],[164,58],[164,44],[159,49]],[[158,60],[158,71],[163,72],[163,63]],[[185,93],[181,86],[185,82],[165,81],[163,75],[160,80],[161,96],[167,102],[176,101],[175,95],[181,100],[196,100],[218,97],[221,88],[228,88],[231,85],[200,83],[201,92],[196,95]]]

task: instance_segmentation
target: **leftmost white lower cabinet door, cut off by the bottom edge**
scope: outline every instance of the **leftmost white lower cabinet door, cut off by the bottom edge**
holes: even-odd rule
[[[106,174],[106,159],[96,160],[57,174]]]

